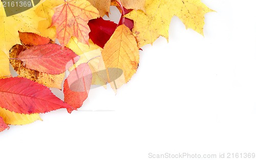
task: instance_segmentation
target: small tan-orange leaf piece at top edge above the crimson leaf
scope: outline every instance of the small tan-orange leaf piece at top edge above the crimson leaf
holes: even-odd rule
[[[88,0],[95,8],[98,9],[99,14],[103,17],[110,11],[111,0]]]

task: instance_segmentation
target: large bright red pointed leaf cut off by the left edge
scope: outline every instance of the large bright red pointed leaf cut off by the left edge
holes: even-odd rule
[[[72,109],[49,88],[22,77],[0,79],[0,106],[20,114],[46,113],[61,108]]]

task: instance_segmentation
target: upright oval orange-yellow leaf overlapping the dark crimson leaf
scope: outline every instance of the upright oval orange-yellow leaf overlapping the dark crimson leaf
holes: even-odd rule
[[[110,68],[119,68],[123,71],[124,82],[119,81],[118,84],[115,84],[115,88],[119,88],[130,81],[138,68],[139,48],[129,28],[125,25],[118,26],[110,40],[105,44],[102,50],[102,57],[109,76],[111,75],[113,79],[119,76],[116,69],[109,70]]]

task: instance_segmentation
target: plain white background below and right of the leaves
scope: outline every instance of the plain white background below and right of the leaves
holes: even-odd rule
[[[203,2],[217,11],[206,14],[204,37],[174,17],[169,43],[143,47],[117,95],[95,88],[79,111],[11,126],[0,134],[0,159],[256,152],[255,1]]]

